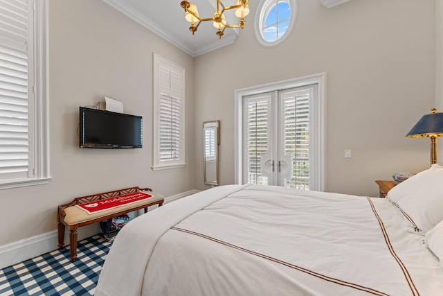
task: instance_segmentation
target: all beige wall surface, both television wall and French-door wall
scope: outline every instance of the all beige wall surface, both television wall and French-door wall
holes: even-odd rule
[[[296,28],[271,49],[255,40],[257,2],[235,44],[192,59],[100,0],[49,1],[53,180],[0,192],[8,221],[0,245],[55,230],[57,204],[76,196],[134,185],[164,195],[208,188],[202,121],[221,120],[220,180],[233,183],[234,90],[311,73],[327,72],[327,191],[377,195],[374,180],[428,166],[428,140],[404,135],[438,93],[434,1],[353,0],[327,10],[298,0]],[[150,168],[153,52],[186,68],[185,168]],[[78,107],[103,96],[143,116],[142,149],[78,148]]]

